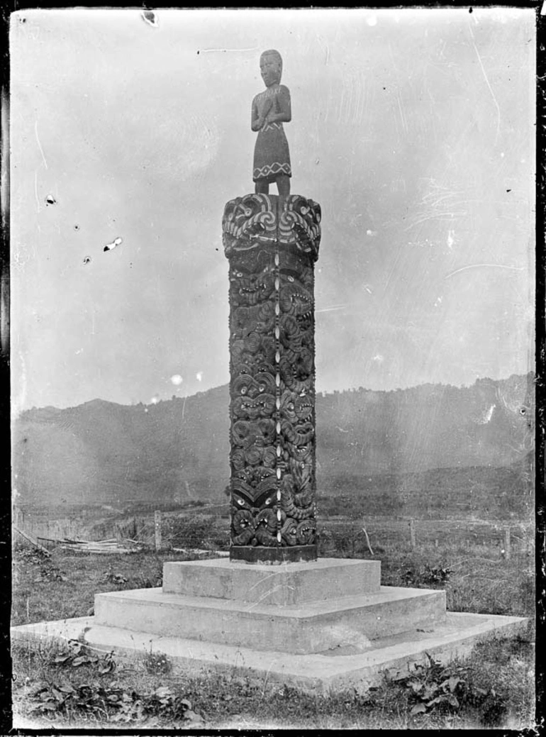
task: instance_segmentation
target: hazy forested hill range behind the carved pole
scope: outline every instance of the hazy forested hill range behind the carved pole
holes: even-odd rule
[[[365,489],[366,478],[379,476],[517,467],[533,447],[533,380],[318,394],[319,495],[347,483]],[[21,413],[13,426],[15,502],[218,500],[229,478],[228,402],[225,385],[156,405],[94,399]]]

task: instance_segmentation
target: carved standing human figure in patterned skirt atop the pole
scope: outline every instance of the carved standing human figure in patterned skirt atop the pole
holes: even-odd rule
[[[266,89],[252,101],[251,128],[258,132],[252,178],[255,191],[264,195],[269,194],[270,183],[276,181],[281,199],[286,200],[292,169],[282,124],[292,119],[290,91],[281,85],[282,59],[278,51],[263,52],[259,66]]]

